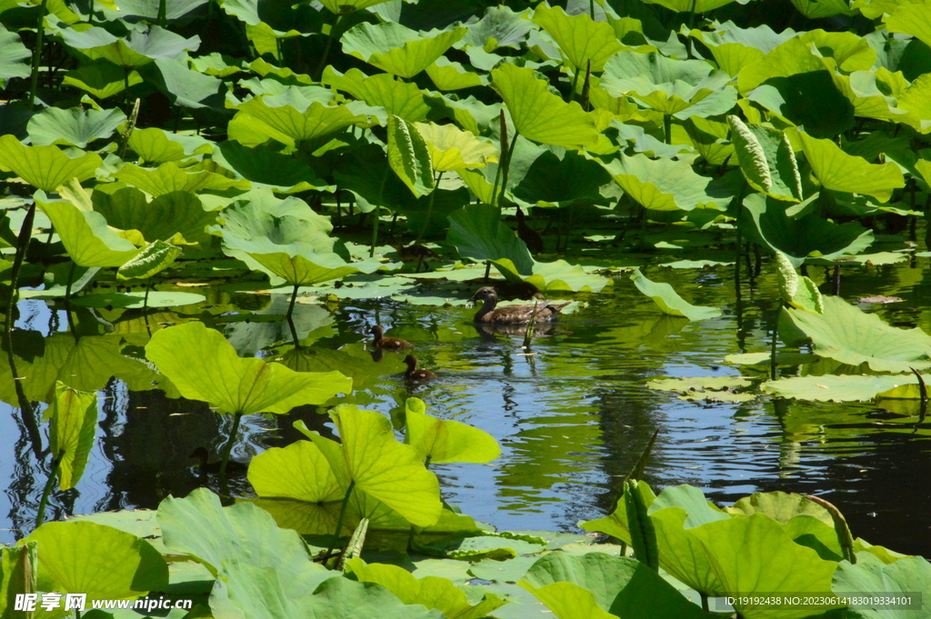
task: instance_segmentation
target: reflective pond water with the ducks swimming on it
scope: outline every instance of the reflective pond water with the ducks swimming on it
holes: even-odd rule
[[[925,258],[844,267],[841,291],[854,301],[874,294],[901,297],[904,303],[879,306],[879,314],[897,327],[917,325],[931,332],[927,269]],[[928,424],[918,429],[897,424],[895,410],[872,404],[769,397],[707,403],[646,387],[654,377],[738,375],[741,370],[766,378],[768,366],[740,368],[723,358],[769,349],[778,303],[774,272],[773,264],[764,262],[762,275],[745,273],[737,288],[733,266],[651,267],[647,276],[671,283],[690,302],[722,308],[721,317],[694,323],[661,315],[627,276],[618,276],[602,293],[585,295],[586,306],[578,312],[538,333],[533,354],[521,348],[518,335],[477,331],[470,322],[474,310],[464,307],[344,299],[329,307],[299,303],[295,322],[302,337],[316,339],[311,350],[317,352],[305,353],[304,369],[355,374],[358,391],[344,401],[396,417],[405,397],[421,397],[431,414],[476,425],[498,439],[503,454],[491,464],[443,464],[434,470],[448,501],[499,529],[577,531],[579,520],[604,515],[618,480],[658,428],[646,469],[656,491],[689,483],[719,504],[753,491],[818,494],[841,508],[856,536],[931,556]],[[833,288],[825,268],[810,267],[808,275],[824,284],[823,291]],[[445,289],[444,295],[465,299],[473,288],[462,284]],[[74,360],[75,371],[112,374],[108,355],[122,350],[142,358],[147,328],[192,318],[223,330],[242,356],[294,356],[287,345],[266,348],[279,336],[286,339],[288,329],[280,322],[263,322],[262,316],[252,316],[249,323],[241,319],[242,312],[256,310],[265,312],[264,319],[274,317],[286,297],[204,290],[196,289],[208,302],[175,311],[78,313],[86,324],[101,318],[115,330],[92,336],[98,340],[82,338],[87,350]],[[400,356],[386,353],[374,361],[365,342],[376,322],[388,335],[414,343],[421,367],[435,370],[439,380],[409,390],[400,379]],[[46,302],[21,302],[18,325],[42,332],[46,356],[73,345],[65,313],[53,315]],[[799,370],[786,367],[779,373]],[[806,369],[829,370],[827,364]],[[219,452],[230,419],[201,402],[170,399],[158,390],[132,391],[132,377],[123,378],[110,380],[99,392],[96,447],[77,489],[53,492],[50,513],[55,518],[154,508],[169,494],[183,496],[215,482],[197,476],[188,455],[201,446]],[[304,407],[285,416],[244,419],[234,457],[248,460],[299,439],[292,428],[297,419],[331,433],[329,418],[320,412]],[[36,463],[19,419],[19,410],[0,405],[0,542],[7,543],[32,530],[47,476],[47,458]],[[233,488],[250,495],[245,479],[235,480]]]

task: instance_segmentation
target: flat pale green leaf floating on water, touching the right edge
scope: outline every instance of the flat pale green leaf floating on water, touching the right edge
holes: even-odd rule
[[[925,376],[931,382],[931,376]],[[869,402],[905,384],[918,384],[914,374],[892,376],[796,376],[763,383],[763,393],[818,402]]]

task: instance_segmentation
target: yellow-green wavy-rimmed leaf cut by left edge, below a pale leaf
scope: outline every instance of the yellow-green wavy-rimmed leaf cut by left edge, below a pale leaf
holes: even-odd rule
[[[101,165],[96,153],[65,155],[58,146],[23,146],[15,136],[0,137],[0,169],[14,172],[44,192],[57,190],[65,181],[92,178]]]

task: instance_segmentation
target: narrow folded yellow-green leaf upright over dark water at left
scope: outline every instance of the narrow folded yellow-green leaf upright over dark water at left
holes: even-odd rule
[[[58,462],[59,488],[71,490],[88,465],[97,430],[97,394],[55,384],[48,449]]]

